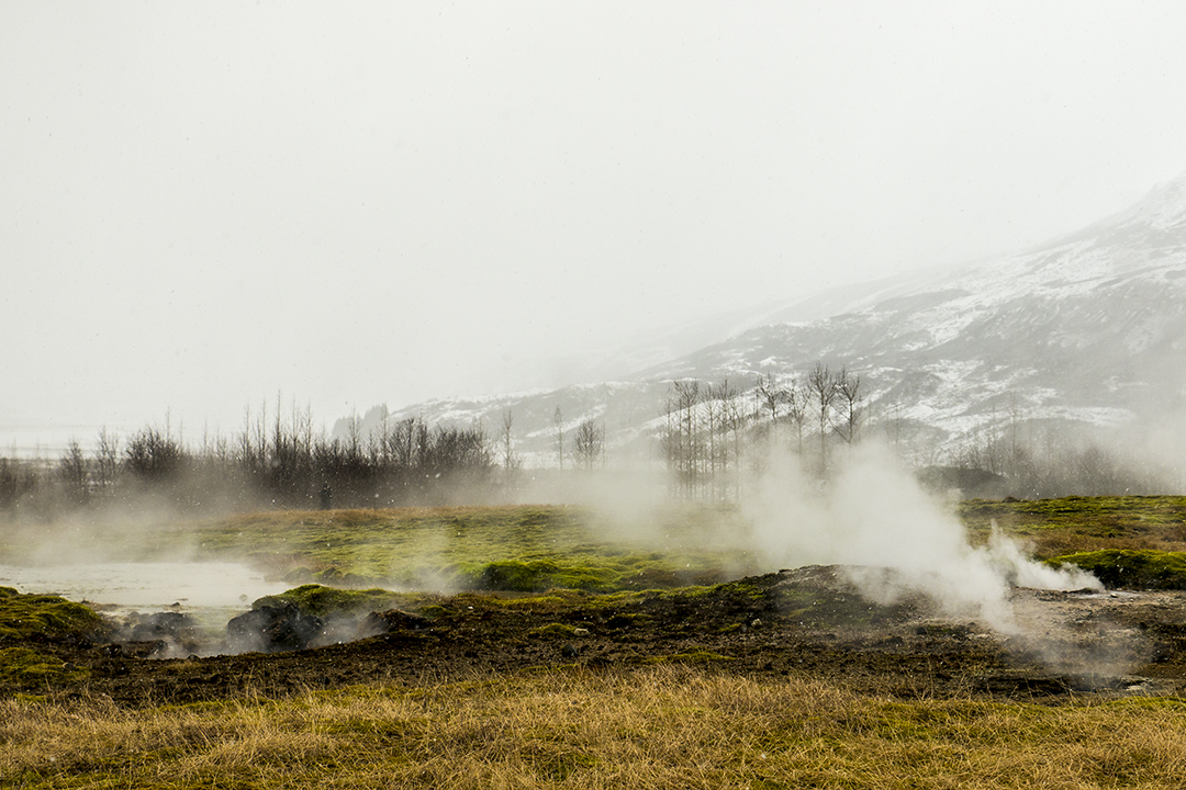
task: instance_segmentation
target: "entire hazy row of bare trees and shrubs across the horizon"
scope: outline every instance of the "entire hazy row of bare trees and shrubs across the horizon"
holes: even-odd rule
[[[881,393],[884,394],[884,393]],[[873,418],[873,413],[878,418]],[[1121,460],[1066,426],[1037,425],[1013,409],[1006,422],[973,432],[943,456],[920,450],[918,425],[905,424],[861,375],[817,364],[795,377],[759,377],[750,388],[728,379],[670,384],[658,407],[653,467],[665,469],[665,495],[684,502],[738,501],[771,452],[799,458],[827,480],[843,449],[875,438],[895,448],[936,492],[964,497],[1047,499],[1067,494],[1167,493],[1173,483],[1133,458]],[[382,419],[363,433],[314,431],[308,411],[281,404],[247,413],[231,437],[183,439],[166,420],[121,437],[103,430],[90,452],[71,442],[57,460],[0,458],[0,514],[55,516],[72,509],[167,507],[178,512],[260,508],[401,507],[567,501],[570,484],[524,488],[534,479],[565,483],[613,469],[611,436],[586,417],[553,419],[548,468],[524,469],[510,410],[491,436],[482,424]],[[547,461],[544,461],[547,463]]]

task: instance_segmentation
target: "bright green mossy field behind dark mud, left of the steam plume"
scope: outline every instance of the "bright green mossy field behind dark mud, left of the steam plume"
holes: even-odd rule
[[[576,508],[516,506],[269,512],[199,522],[190,532],[208,555],[246,555],[293,583],[604,592],[744,574],[739,528],[733,510],[676,508],[657,515],[642,539]]]

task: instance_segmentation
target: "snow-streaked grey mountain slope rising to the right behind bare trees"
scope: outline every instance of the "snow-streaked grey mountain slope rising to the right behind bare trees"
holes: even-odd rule
[[[1032,250],[704,326],[733,333],[658,362],[662,345],[639,343],[649,366],[617,381],[428,402],[393,417],[480,420],[497,433],[509,410],[518,450],[544,457],[557,406],[566,430],[594,417],[611,445],[629,445],[657,429],[672,380],[728,378],[745,391],[759,375],[802,380],[817,361],[861,375],[871,420],[927,432],[940,448],[1007,420],[1109,426],[1177,409],[1186,397],[1186,176]],[[363,430],[377,417],[369,412]]]

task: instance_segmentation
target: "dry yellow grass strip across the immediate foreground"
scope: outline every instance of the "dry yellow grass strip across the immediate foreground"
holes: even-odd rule
[[[904,702],[689,667],[0,704],[5,788],[1179,788],[1186,705]]]

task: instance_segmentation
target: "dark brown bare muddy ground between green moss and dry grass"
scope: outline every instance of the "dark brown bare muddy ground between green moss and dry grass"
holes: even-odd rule
[[[506,605],[461,595],[439,599],[428,622],[389,616],[391,630],[378,636],[272,654],[160,660],[147,657],[160,647],[151,640],[65,640],[37,649],[68,664],[68,679],[0,691],[135,706],[690,662],[901,698],[1059,702],[1186,692],[1186,592],[1016,589],[1018,629],[1003,634],[942,615],[925,599],[876,604],[844,578],[842,569],[809,567],[608,602],[563,596]]]

